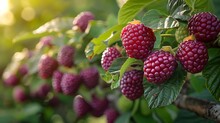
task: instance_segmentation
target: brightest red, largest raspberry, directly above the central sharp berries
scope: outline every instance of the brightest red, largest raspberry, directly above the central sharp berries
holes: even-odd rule
[[[154,47],[156,37],[151,28],[140,21],[133,21],[123,28],[121,40],[129,57],[145,60]]]

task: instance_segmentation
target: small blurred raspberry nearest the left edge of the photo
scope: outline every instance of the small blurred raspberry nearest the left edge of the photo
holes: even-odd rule
[[[7,86],[15,86],[19,83],[19,81],[19,78],[15,74],[11,74],[4,80],[4,83]]]

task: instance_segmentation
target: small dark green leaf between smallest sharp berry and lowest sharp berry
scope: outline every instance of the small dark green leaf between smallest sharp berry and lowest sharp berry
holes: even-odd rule
[[[122,67],[122,65],[125,63],[125,61],[127,60],[128,58],[126,57],[121,57],[121,58],[117,58],[115,59],[111,66],[109,67],[108,71],[110,73],[119,73],[120,72],[120,69]]]

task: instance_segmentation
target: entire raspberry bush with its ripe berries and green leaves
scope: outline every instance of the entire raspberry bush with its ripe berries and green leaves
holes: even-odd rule
[[[117,17],[84,11],[16,37],[37,43],[15,53],[4,71],[15,105],[36,104],[43,122],[48,115],[76,123],[206,121],[192,112],[219,122],[220,20],[212,2],[118,4]],[[201,107],[216,104],[215,113],[202,114],[200,103],[187,108],[195,106],[184,102],[189,95],[205,100],[203,94],[215,100]]]

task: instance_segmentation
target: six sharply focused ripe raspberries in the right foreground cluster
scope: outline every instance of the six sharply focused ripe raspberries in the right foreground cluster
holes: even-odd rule
[[[131,100],[142,96],[143,76],[148,82],[162,84],[168,80],[178,66],[177,61],[190,73],[201,72],[208,62],[208,51],[205,43],[217,39],[220,32],[220,21],[209,13],[201,12],[191,17],[188,30],[195,40],[180,43],[176,55],[168,51],[153,51],[156,37],[151,28],[140,21],[132,21],[121,31],[122,45],[128,57],[144,62],[143,71],[131,70],[124,73],[120,81],[123,95]],[[108,70],[112,62],[121,57],[115,47],[107,48],[102,54],[101,65]]]

